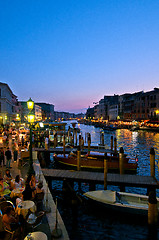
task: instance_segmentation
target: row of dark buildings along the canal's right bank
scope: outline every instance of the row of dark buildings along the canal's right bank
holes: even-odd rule
[[[89,109],[87,109],[87,118],[88,113],[90,115]],[[130,121],[159,120],[159,88],[154,88],[148,92],[140,91],[119,96],[104,96],[104,99],[101,99],[91,109],[91,118]]]

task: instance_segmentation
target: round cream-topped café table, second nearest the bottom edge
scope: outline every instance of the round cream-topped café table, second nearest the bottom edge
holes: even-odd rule
[[[18,203],[16,207],[16,213],[18,215],[23,215],[23,217],[26,218],[28,211],[31,211],[32,213],[36,211],[36,205],[33,201],[26,200]]]

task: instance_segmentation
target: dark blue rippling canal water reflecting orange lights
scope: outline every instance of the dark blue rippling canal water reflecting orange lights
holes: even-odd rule
[[[78,124],[82,136],[85,133],[91,134],[91,144],[100,143],[101,128]],[[156,178],[159,179],[159,133],[146,131],[130,131],[118,129],[116,131],[104,132],[104,141],[110,148],[111,136],[116,137],[118,149],[124,148],[124,152],[130,157],[138,156],[137,175],[150,175],[150,148],[155,149],[156,158]],[[56,166],[55,166],[56,167]],[[83,197],[83,192],[89,191],[89,186],[85,183],[79,190],[75,183],[76,201],[69,193],[62,191],[60,181],[52,182],[52,195],[57,198],[58,210],[64,220],[70,240],[105,240],[105,239],[159,239],[159,228],[157,231],[150,231],[147,225],[147,217],[136,217],[125,215],[104,209],[89,202]],[[103,189],[103,185],[97,185],[97,189]],[[117,190],[118,187],[108,186],[108,189]],[[146,189],[127,187],[126,192],[146,194]],[[159,191],[157,191],[159,197]],[[71,200],[72,199],[72,200]]]

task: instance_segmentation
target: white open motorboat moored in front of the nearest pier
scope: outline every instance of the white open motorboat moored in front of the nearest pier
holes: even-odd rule
[[[119,212],[137,215],[148,214],[148,196],[145,195],[112,190],[96,190],[86,192],[84,196],[94,203]],[[159,210],[159,198],[157,198],[157,208]]]

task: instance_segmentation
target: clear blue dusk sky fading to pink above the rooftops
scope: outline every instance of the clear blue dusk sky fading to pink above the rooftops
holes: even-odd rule
[[[159,87],[158,0],[1,0],[0,81],[81,112]]]

